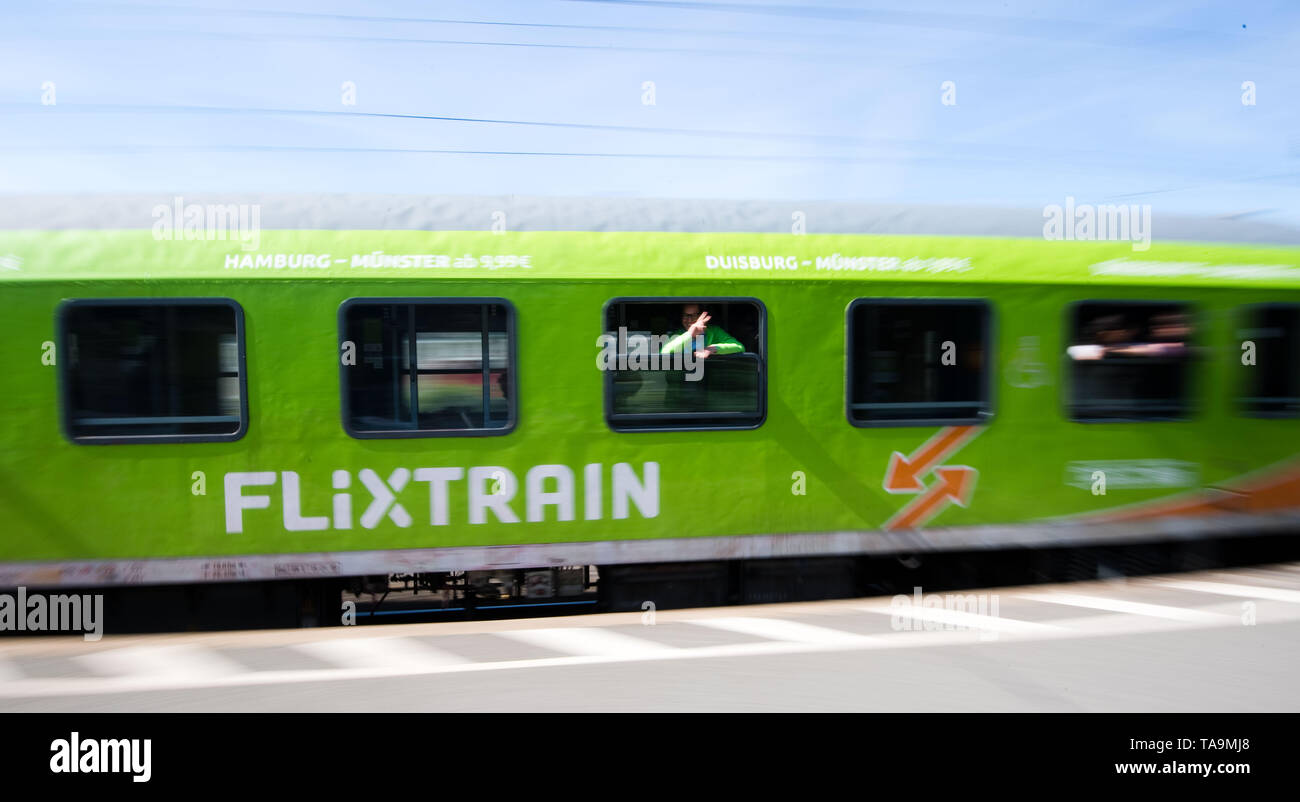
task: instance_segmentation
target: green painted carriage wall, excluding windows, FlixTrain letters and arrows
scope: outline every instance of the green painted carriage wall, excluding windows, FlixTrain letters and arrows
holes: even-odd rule
[[[0,382],[0,563],[879,530],[910,498],[881,486],[890,455],[911,454],[939,426],[855,428],[846,420],[845,311],[857,298],[982,298],[992,307],[994,415],[949,459],[978,469],[978,485],[966,507],[945,507],[932,526],[1086,516],[1192,490],[1114,487],[1095,495],[1066,484],[1066,467],[1080,460],[1193,463],[1199,485],[1214,486],[1300,452],[1300,420],[1245,417],[1234,403],[1236,316],[1247,304],[1300,302],[1296,248],[1157,242],[1138,252],[1131,243],[942,237],[263,231],[259,248],[244,251],[233,242],[159,242],[147,230],[83,230],[0,233],[0,255],[18,257],[10,263],[18,266],[0,270],[8,356]],[[277,255],[285,255],[281,266]],[[303,255],[315,257],[313,266]],[[408,439],[344,433],[339,305],[399,296],[503,298],[514,305],[519,415],[511,433]],[[620,296],[762,300],[764,422],[751,430],[612,432],[595,357],[602,307]],[[46,343],[58,341],[58,304],[91,298],[238,302],[247,434],[213,443],[70,442],[60,429],[58,368],[43,356]],[[1083,299],[1193,305],[1205,357],[1195,370],[1191,420],[1067,419],[1066,316]],[[1036,354],[1024,351],[1024,338],[1037,338]],[[1043,383],[1017,381],[1027,370]],[[641,485],[651,482],[649,465],[658,465],[656,510],[632,503],[627,517],[614,517],[619,463],[630,465]],[[592,464],[601,465],[602,503],[601,516],[586,520],[584,467]],[[537,465],[573,472],[573,520],[558,520],[554,504],[542,507],[545,520],[528,520],[523,485]],[[398,494],[410,526],[385,517],[373,529],[354,523],[291,532],[277,481],[244,489],[269,495],[270,506],[244,510],[243,530],[228,532],[229,473],[296,472],[303,515],[328,516],[338,493],[332,476],[348,471],[355,519],[369,502],[356,481],[360,471],[389,477],[399,468],[439,467],[514,473],[520,490],[510,507],[519,521],[489,515],[469,523],[462,478],[451,482],[446,525],[430,523],[429,484],[411,481]]]

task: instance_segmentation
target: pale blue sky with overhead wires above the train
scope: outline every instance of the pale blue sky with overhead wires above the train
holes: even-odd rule
[[[1300,226],[1300,4],[822,3],[9,1],[0,192],[1070,195]]]

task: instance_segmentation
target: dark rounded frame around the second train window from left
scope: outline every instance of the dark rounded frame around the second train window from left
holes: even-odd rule
[[[347,342],[347,312],[352,305],[426,305],[426,307],[481,307],[485,304],[499,304],[506,309],[506,389],[507,389],[507,420],[504,426],[478,428],[478,429],[381,429],[359,430],[352,426],[352,402],[348,394],[347,370],[356,365],[344,365],[341,357],[343,343]],[[338,338],[334,357],[338,359],[338,400],[339,422],[343,432],[355,439],[412,439],[428,437],[503,437],[512,433],[519,426],[519,357],[517,357],[517,322],[515,304],[504,298],[495,296],[356,296],[347,298],[338,305]],[[416,341],[412,333],[412,343]],[[486,337],[486,331],[481,330]],[[360,355],[358,355],[360,356]],[[490,354],[485,348],[484,363],[489,365],[491,373]],[[412,363],[412,370],[419,374],[419,368]],[[482,370],[480,370],[482,372]]]

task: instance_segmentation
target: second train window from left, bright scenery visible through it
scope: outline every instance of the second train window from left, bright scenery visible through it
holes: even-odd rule
[[[504,299],[351,299],[339,308],[339,341],[343,428],[352,437],[515,428],[515,309]]]

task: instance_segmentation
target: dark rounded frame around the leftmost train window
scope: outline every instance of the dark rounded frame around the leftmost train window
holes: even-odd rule
[[[239,425],[229,434],[113,434],[86,437],[73,433],[72,359],[68,346],[68,317],[73,309],[94,307],[228,307],[235,316],[235,359],[239,367]],[[243,307],[233,298],[68,298],[55,313],[58,343],[58,422],[64,438],[78,446],[230,443],[248,433],[248,365]]]

